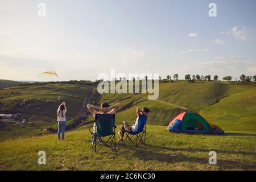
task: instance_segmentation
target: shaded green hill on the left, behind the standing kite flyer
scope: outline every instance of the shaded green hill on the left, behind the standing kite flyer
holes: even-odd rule
[[[3,122],[0,127],[1,140],[32,136],[42,133],[46,127],[56,128],[56,109],[61,102],[68,103],[69,123],[74,121],[81,108],[86,92],[91,85],[46,84],[13,86],[0,90],[0,113],[21,113],[32,125]],[[93,95],[90,96],[89,101]],[[1,122],[1,120],[0,120]],[[21,127],[24,126],[24,127]]]

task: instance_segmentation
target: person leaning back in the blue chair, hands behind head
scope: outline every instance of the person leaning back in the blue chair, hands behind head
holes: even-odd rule
[[[142,110],[137,107],[137,119],[136,122],[133,125],[129,125],[126,121],[123,121],[121,124],[121,128],[118,131],[118,134],[120,135],[120,138],[118,139],[118,142],[123,142],[123,135],[125,135],[125,131],[128,132],[137,132],[138,131],[138,119],[139,115],[147,115],[150,112],[150,110],[147,107],[144,107]]]

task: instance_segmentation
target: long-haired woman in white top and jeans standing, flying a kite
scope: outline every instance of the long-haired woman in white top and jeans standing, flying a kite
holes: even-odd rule
[[[62,140],[64,141],[65,127],[66,127],[66,117],[67,113],[66,103],[63,102],[57,110],[57,122],[58,122],[58,141],[60,141],[60,133],[62,132]]]

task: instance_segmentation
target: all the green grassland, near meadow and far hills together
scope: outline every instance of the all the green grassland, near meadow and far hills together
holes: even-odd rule
[[[90,104],[121,104],[116,124],[133,122],[136,107],[147,106],[148,129],[145,146],[117,145],[117,152],[104,148],[94,154],[89,131],[83,125],[89,116],[57,142],[56,134],[42,130],[56,128],[56,109],[68,105],[68,123],[76,121],[86,92]],[[256,169],[256,84],[242,82],[185,81],[159,84],[158,100],[147,94],[98,94],[92,84],[13,86],[0,89],[0,113],[23,113],[34,125],[0,125],[0,169],[107,169],[107,170],[255,170]],[[39,108],[39,109],[38,109]],[[181,110],[196,111],[208,122],[225,130],[225,135],[172,134],[166,125]],[[88,113],[86,113],[88,114]],[[1,122],[1,120],[0,120]],[[32,137],[34,136],[34,137]],[[118,135],[117,135],[118,137]],[[47,165],[37,162],[38,151],[46,151]],[[217,165],[209,165],[208,152],[217,152]]]

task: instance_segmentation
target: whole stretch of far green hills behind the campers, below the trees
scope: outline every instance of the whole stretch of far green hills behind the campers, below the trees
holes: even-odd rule
[[[151,110],[148,123],[153,125],[168,125],[180,111],[191,110],[225,131],[256,131],[256,84],[160,82],[158,100],[147,100],[147,94],[99,94],[96,85],[49,83],[0,89],[0,112],[22,113],[35,124],[21,128],[20,123],[9,125],[0,121],[1,140],[42,133],[49,126],[56,130],[56,108],[62,101],[68,104],[68,125],[82,125],[75,117],[81,113],[84,97],[90,88],[92,93],[88,96],[88,103],[121,104],[116,115],[117,123],[134,122],[136,107],[147,106]],[[82,119],[93,122],[90,114]]]

